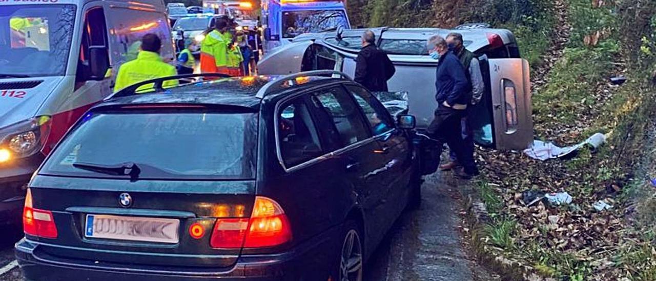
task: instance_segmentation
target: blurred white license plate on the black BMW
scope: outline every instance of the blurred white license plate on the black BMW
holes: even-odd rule
[[[85,237],[176,244],[179,229],[177,219],[87,215]]]

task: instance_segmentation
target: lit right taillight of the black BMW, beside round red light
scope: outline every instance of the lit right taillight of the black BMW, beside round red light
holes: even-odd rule
[[[250,219],[216,220],[212,248],[266,248],[291,241],[291,225],[282,207],[265,197],[256,197]]]

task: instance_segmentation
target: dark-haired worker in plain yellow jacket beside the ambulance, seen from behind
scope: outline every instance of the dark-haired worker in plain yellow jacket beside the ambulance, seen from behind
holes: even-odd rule
[[[125,62],[119,68],[116,76],[116,85],[114,91],[121,91],[126,87],[159,77],[175,76],[177,74],[175,67],[162,61],[159,51],[162,47],[162,41],[153,33],[144,35],[141,39],[141,51],[136,56],[136,60]],[[164,81],[163,87],[173,87],[178,85],[178,80],[173,79]],[[154,87],[153,84],[138,87],[139,93],[148,92]]]

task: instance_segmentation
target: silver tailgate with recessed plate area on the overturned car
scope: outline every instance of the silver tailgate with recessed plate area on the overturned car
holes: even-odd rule
[[[533,140],[529,64],[522,58],[489,60],[493,135],[500,150],[523,150]]]

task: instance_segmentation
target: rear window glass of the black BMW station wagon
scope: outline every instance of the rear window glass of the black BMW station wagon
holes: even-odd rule
[[[79,169],[136,164],[139,179],[254,179],[256,113],[100,112],[88,114],[41,174],[121,177]]]

